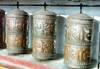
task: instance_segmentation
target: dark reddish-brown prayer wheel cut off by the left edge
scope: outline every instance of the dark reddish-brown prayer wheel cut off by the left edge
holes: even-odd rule
[[[0,49],[5,47],[5,11],[0,9]]]

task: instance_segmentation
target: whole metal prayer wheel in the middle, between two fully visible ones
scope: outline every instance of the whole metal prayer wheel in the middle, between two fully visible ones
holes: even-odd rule
[[[42,10],[33,14],[33,56],[38,60],[52,59],[55,54],[56,14]]]

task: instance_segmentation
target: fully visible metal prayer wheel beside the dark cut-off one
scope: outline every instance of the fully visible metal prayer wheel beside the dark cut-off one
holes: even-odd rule
[[[10,54],[25,53],[28,48],[28,14],[12,10],[7,14],[7,51]]]

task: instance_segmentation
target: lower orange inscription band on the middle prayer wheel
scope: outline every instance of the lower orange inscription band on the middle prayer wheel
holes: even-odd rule
[[[33,40],[33,51],[38,53],[52,53],[53,41]]]

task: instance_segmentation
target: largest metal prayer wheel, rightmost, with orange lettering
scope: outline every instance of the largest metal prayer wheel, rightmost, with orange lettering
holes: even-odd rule
[[[95,65],[92,58],[94,19],[77,13],[67,18],[64,64],[69,68],[89,68]]]

